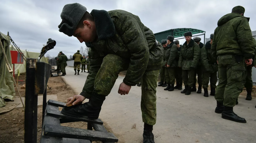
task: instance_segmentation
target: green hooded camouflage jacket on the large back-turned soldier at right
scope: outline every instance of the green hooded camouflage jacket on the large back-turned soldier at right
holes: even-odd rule
[[[254,43],[248,19],[241,14],[226,14],[218,21],[211,46],[213,57],[218,55],[242,55],[245,59],[254,56]]]

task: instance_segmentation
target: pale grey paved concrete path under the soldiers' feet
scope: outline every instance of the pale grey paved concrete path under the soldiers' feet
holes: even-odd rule
[[[63,79],[79,94],[88,73],[74,75],[73,68],[66,68]],[[133,86],[128,95],[117,93],[123,81],[119,76],[103,103],[100,118],[126,143],[142,143],[141,87]],[[247,120],[237,123],[221,118],[214,112],[216,101],[203,93],[184,95],[180,90],[164,91],[157,87],[157,123],[154,125],[156,143],[255,143],[256,99],[246,101],[239,97],[234,112]],[[72,95],[71,95],[72,96]],[[136,124],[136,129],[132,129]]]

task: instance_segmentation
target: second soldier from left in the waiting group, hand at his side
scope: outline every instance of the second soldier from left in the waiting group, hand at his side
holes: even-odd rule
[[[168,90],[168,91],[174,90],[175,67],[178,66],[178,63],[175,60],[178,53],[178,49],[173,40],[174,40],[174,36],[167,37],[168,46],[164,54],[164,58],[165,58],[164,64],[166,66],[165,77],[168,85],[167,88],[165,88],[164,90]]]

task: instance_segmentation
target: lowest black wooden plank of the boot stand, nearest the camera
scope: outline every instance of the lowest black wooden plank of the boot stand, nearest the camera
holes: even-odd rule
[[[118,139],[113,133],[104,133],[99,131],[91,131],[86,129],[78,129],[71,127],[64,127],[59,125],[49,125],[46,124],[43,130],[44,136],[51,137],[68,137],[76,139],[85,139],[92,141],[107,141],[107,142],[117,142]]]

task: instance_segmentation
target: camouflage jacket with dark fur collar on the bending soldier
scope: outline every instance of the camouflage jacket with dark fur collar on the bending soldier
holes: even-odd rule
[[[163,64],[163,46],[156,42],[154,33],[140,18],[124,10],[92,10],[98,41],[87,42],[91,47],[90,73],[83,96],[91,94],[94,80],[107,54],[116,54],[130,61],[123,82],[135,86],[145,70],[159,70]],[[157,46],[154,46],[156,43]]]

